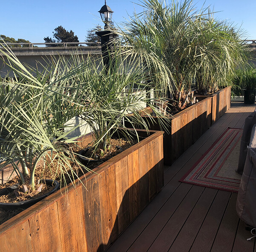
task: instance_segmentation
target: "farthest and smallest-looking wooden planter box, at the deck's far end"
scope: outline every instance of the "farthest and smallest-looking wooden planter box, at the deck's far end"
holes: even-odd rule
[[[212,95],[196,95],[197,99],[212,97],[212,123],[215,123],[227,110],[231,103],[231,86],[228,86]]]

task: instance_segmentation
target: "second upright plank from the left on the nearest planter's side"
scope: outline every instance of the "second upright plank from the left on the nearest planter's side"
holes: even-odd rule
[[[38,212],[29,224],[33,251],[62,251],[57,203]]]

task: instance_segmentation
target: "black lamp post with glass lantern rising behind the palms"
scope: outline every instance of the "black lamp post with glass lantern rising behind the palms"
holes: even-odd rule
[[[113,34],[110,30],[109,23],[111,22],[113,11],[109,6],[107,6],[105,0],[105,5],[102,6],[102,8],[98,12],[101,15],[103,23],[105,23],[105,26],[103,31],[96,31],[96,34],[101,38],[102,57],[104,65],[107,66],[107,68],[109,68],[108,52],[112,49],[110,41],[113,39]]]

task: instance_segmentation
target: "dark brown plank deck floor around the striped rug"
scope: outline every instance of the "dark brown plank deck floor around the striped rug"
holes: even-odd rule
[[[108,252],[256,252],[255,239],[246,240],[252,235],[236,214],[236,193],[179,182],[227,127],[242,129],[254,110],[255,105],[232,102],[190,149],[165,166],[164,188]]]

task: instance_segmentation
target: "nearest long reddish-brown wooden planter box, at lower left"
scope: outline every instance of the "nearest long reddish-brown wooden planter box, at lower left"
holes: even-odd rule
[[[163,132],[150,134],[81,178],[87,189],[76,181],[0,225],[0,251],[105,251],[163,187]]]

